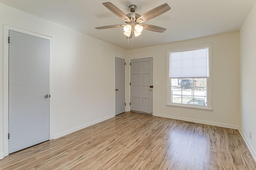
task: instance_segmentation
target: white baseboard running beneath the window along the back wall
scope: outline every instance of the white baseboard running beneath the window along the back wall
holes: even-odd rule
[[[171,118],[171,119],[178,119],[178,120],[183,120],[183,121],[191,121],[191,122],[196,122],[196,123],[202,123],[202,124],[207,124],[207,125],[227,127],[227,128],[231,128],[231,129],[238,129],[238,126],[236,126],[236,125],[229,125],[229,124],[218,123],[218,122],[204,121],[204,120],[198,120],[198,119],[190,119],[190,118],[186,118],[186,117],[176,117],[176,116],[172,116],[172,115],[163,115],[163,114],[158,114],[158,113],[153,113],[153,115],[154,116],[159,116],[159,117]]]

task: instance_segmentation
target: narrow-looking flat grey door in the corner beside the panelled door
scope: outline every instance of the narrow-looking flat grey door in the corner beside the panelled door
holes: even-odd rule
[[[125,112],[125,60],[115,57],[116,115]]]

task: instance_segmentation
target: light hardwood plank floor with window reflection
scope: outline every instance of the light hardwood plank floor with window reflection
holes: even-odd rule
[[[7,170],[256,170],[235,129],[127,112],[0,160]]]

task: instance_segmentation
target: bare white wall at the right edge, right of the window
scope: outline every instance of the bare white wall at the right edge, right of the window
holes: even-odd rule
[[[256,4],[240,29],[240,131],[256,160]],[[249,134],[252,132],[252,139]]]

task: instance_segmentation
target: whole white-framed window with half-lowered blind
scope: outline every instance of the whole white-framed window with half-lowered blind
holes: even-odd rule
[[[212,110],[212,44],[167,50],[167,106]]]

